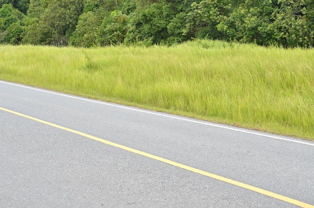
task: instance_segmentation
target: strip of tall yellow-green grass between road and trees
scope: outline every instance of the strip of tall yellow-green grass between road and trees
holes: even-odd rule
[[[314,140],[314,50],[2,45],[0,79]]]

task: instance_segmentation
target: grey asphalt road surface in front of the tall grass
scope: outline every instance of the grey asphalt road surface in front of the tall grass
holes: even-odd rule
[[[0,207],[314,205],[314,142],[4,81],[0,108]]]

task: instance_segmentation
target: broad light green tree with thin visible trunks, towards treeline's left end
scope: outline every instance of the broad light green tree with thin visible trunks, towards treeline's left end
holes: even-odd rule
[[[67,45],[82,10],[83,0],[31,0],[23,42]]]

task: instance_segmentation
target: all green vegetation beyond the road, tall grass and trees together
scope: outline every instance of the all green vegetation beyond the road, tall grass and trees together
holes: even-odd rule
[[[0,0],[1,79],[311,139],[313,45],[314,0]]]

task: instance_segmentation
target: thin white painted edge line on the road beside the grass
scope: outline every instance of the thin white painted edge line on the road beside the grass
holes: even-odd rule
[[[15,84],[15,83],[10,83],[10,82],[5,82],[5,81],[0,81],[0,83],[11,84],[11,85],[19,86],[19,87],[24,87],[24,88],[28,88],[28,89],[37,90],[37,91],[61,95],[61,96],[65,96],[65,97],[71,97],[71,98],[85,100],[85,101],[89,101],[89,102],[95,102],[95,103],[99,103],[99,104],[106,105],[106,106],[111,106],[111,107],[116,107],[116,108],[121,108],[121,109],[127,109],[127,110],[131,110],[131,111],[137,111],[137,112],[141,112],[141,113],[145,113],[145,114],[162,116],[162,117],[167,117],[167,118],[171,118],[171,119],[177,119],[177,120],[181,120],[181,121],[192,122],[192,123],[196,123],[196,124],[203,124],[203,125],[207,125],[207,126],[211,126],[211,127],[217,127],[217,128],[221,128],[221,129],[232,130],[232,131],[236,131],[236,132],[242,132],[242,133],[253,134],[253,135],[262,136],[262,137],[268,137],[268,138],[272,138],[272,139],[278,139],[278,140],[284,140],[284,141],[314,146],[314,144],[310,144],[310,143],[306,143],[306,142],[284,139],[284,138],[280,138],[280,137],[275,137],[275,136],[270,136],[270,135],[255,133],[255,132],[249,132],[249,131],[245,131],[245,130],[230,128],[230,127],[223,127],[223,126],[219,126],[219,125],[215,125],[215,124],[209,124],[209,123],[205,123],[205,122],[193,121],[193,120],[189,120],[189,119],[183,119],[183,118],[178,118],[178,117],[174,117],[174,116],[168,116],[168,115],[164,115],[164,114],[158,114],[158,113],[153,113],[153,112],[148,112],[148,111],[143,111],[143,110],[138,110],[138,109],[133,109],[133,108],[128,108],[128,107],[113,105],[113,104],[110,104],[107,102],[101,102],[101,101],[96,101],[96,100],[92,100],[92,99],[81,98],[81,97],[77,97],[77,96],[71,96],[71,95],[67,95],[67,94],[48,91],[48,90],[44,90],[44,89],[38,89],[38,88],[24,86],[24,85],[20,85],[20,84]]]

